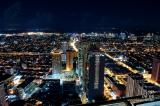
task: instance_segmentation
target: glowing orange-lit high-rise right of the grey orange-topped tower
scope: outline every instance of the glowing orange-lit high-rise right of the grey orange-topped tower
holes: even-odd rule
[[[73,69],[73,59],[77,57],[77,52],[73,50],[67,50],[67,61],[66,61],[66,71],[72,71]]]

